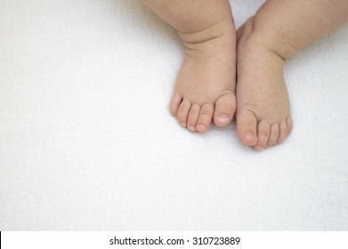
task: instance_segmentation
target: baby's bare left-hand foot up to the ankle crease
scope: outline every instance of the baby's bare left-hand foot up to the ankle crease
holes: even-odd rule
[[[236,31],[232,18],[194,34],[179,33],[185,56],[170,103],[191,132],[229,124],[236,110]]]

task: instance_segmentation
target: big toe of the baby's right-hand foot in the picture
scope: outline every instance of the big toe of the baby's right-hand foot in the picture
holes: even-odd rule
[[[240,141],[247,146],[254,146],[257,142],[256,136],[257,119],[254,112],[242,109],[237,116],[237,132]]]

